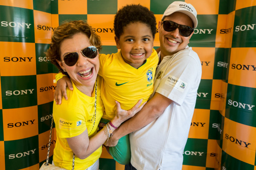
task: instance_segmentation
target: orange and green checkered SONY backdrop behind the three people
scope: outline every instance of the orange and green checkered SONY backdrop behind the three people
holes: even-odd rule
[[[49,141],[58,70],[44,51],[65,20],[87,20],[102,53],[117,52],[113,19],[140,3],[157,21],[174,0],[0,0],[0,169],[38,170]],[[203,69],[183,170],[256,170],[256,0],[185,0]],[[158,48],[159,34],[154,46]],[[52,138],[50,158],[56,142]],[[123,170],[103,150],[100,170]]]

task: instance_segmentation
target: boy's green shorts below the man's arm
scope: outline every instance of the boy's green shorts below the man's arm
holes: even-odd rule
[[[108,123],[110,120],[101,119],[100,122]],[[114,147],[109,147],[109,153],[119,164],[129,164],[131,161],[131,147],[129,134],[119,139]]]

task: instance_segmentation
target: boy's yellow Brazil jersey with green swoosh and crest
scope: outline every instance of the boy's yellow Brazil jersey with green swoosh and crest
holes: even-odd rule
[[[140,99],[148,101],[154,90],[154,74],[158,63],[157,52],[152,54],[139,68],[127,64],[121,52],[100,54],[99,75],[103,77],[102,101],[105,113],[102,118],[111,120],[115,116],[116,103],[120,102],[124,110],[131,109]]]

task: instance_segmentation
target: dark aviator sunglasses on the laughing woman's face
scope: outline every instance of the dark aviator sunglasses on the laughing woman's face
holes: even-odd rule
[[[84,57],[93,59],[98,55],[98,49],[95,46],[89,46],[84,49],[82,49],[80,52],[83,54]],[[73,66],[76,64],[78,60],[79,54],[78,52],[72,52],[68,53],[64,56],[62,62],[65,62],[66,65],[68,66]]]

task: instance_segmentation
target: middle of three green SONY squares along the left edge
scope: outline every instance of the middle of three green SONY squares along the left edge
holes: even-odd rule
[[[3,109],[37,105],[36,75],[1,77]]]

